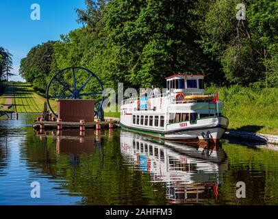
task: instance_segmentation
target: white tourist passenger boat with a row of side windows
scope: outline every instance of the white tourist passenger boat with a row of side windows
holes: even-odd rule
[[[203,74],[166,78],[166,92],[141,94],[121,102],[121,127],[167,140],[214,142],[225,133],[218,94],[205,94]]]

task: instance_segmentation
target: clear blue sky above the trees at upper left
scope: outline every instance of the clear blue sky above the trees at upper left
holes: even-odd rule
[[[33,3],[40,5],[40,21],[30,18]],[[21,58],[31,47],[80,27],[75,8],[85,7],[84,0],[0,0],[0,47],[14,55],[13,73],[18,75]],[[20,76],[11,79],[22,80]]]

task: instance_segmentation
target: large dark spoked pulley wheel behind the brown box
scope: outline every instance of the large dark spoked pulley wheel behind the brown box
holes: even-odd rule
[[[46,96],[49,109],[56,117],[58,115],[53,111],[49,103],[50,99],[92,99],[94,97],[99,101],[94,116],[103,118],[104,96],[101,80],[86,68],[70,67],[60,70],[50,80]]]

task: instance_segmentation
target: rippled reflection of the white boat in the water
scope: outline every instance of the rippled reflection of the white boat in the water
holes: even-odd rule
[[[221,145],[188,146],[121,131],[121,153],[134,168],[163,182],[170,203],[202,203],[217,198],[227,157]]]

